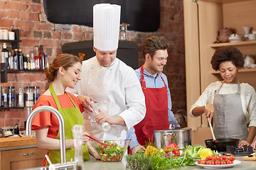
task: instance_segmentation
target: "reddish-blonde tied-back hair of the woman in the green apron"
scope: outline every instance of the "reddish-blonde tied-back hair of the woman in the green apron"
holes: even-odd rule
[[[77,62],[80,62],[80,64],[82,64],[82,60],[80,60],[80,58],[75,55],[70,55],[66,53],[58,55],[53,60],[53,64],[50,64],[50,67],[45,68],[46,79],[48,79],[48,81],[54,81],[60,67],[63,67],[66,70],[69,67],[72,67],[73,64]]]

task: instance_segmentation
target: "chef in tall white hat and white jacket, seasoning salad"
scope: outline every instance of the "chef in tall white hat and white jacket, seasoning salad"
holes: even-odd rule
[[[84,108],[97,101],[100,113],[94,125],[85,113],[85,130],[99,139],[125,139],[129,128],[139,123],[146,114],[145,98],[132,67],[117,58],[121,6],[96,4],[93,6],[95,57],[82,62],[81,81],[75,94]],[[90,96],[90,97],[89,97]],[[102,123],[110,123],[105,132]]]

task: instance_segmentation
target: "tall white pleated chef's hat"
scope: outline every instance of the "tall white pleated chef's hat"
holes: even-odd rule
[[[121,6],[96,4],[93,6],[94,47],[102,51],[117,50]]]

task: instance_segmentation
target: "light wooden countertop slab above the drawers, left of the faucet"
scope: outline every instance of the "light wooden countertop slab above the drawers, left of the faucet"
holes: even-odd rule
[[[18,147],[36,145],[36,137],[3,137],[0,138],[0,147]]]

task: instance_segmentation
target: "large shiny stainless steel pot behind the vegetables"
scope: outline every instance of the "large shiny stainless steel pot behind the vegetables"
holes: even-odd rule
[[[186,145],[191,145],[191,128],[154,130],[154,140],[158,149],[171,143],[175,143],[178,148],[184,149]]]

